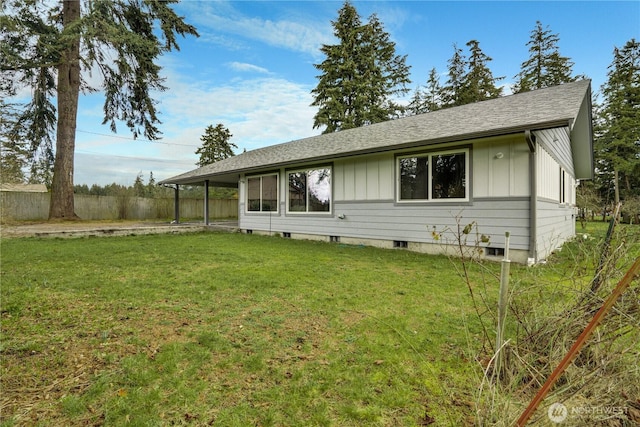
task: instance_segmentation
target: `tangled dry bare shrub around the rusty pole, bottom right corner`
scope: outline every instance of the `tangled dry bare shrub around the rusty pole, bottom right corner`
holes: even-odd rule
[[[596,292],[589,276],[602,247],[599,240],[576,239],[567,245],[552,261],[555,265],[549,266],[557,274],[552,282],[541,283],[535,272],[533,280],[520,282],[511,304],[516,330],[508,347],[508,375],[500,387],[503,398],[528,403],[631,265],[632,248],[637,248],[639,240],[629,228],[615,232],[614,249],[600,272],[603,280]],[[565,425],[636,425],[640,420],[634,418],[640,415],[634,412],[640,409],[639,300],[637,286],[622,295],[558,379],[536,412],[538,419],[546,420],[549,405],[561,403],[568,411]]]

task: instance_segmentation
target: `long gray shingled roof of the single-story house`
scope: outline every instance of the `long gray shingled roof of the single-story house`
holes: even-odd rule
[[[525,130],[560,126],[573,130],[581,113],[588,115],[588,120],[580,123],[585,126],[588,122],[589,129],[580,134],[588,135],[585,142],[592,151],[591,113],[582,111],[585,105],[589,109],[591,106],[590,83],[581,80],[259,148],[165,179],[160,184],[196,184],[204,180],[212,184],[237,184],[240,173],[293,164]]]

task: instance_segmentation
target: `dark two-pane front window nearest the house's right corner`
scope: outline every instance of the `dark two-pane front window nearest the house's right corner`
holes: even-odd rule
[[[398,200],[468,200],[468,157],[467,149],[398,157]]]

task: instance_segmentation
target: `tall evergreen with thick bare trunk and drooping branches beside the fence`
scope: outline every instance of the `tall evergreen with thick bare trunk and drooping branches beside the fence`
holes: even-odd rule
[[[98,70],[105,93],[104,123],[123,121],[134,137],[157,139],[153,91],[166,87],[156,61],[178,49],[177,35],[197,35],[168,1],[7,0],[0,16],[0,90],[30,87],[21,121],[29,141],[53,158],[50,218],[73,218],[73,163],[80,90],[92,91],[81,67]],[[57,101],[57,107],[52,100]],[[33,147],[32,147],[33,148]],[[35,152],[36,150],[31,150]]]

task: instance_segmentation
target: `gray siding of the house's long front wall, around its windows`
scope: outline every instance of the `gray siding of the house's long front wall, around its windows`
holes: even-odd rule
[[[475,234],[477,231],[490,237],[490,246],[504,248],[504,233],[509,231],[513,253],[521,262],[526,262],[529,181],[526,173],[519,173],[519,169],[528,165],[524,137],[486,138],[471,144],[467,142],[464,147],[473,153],[469,168],[472,177],[470,197],[466,201],[398,201],[397,156],[416,152],[415,149],[401,150],[332,162],[331,212],[304,215],[287,212],[286,201],[282,200],[286,196],[281,196],[277,212],[248,212],[241,205],[240,228],[271,234],[288,233],[291,237],[316,236],[323,240],[334,236],[343,243],[380,247],[393,247],[394,242],[400,241],[407,242],[409,249],[438,253],[445,247],[456,249],[450,245],[456,241],[458,229],[475,221],[477,227],[473,234],[466,236],[467,245],[480,243]],[[502,153],[502,158],[496,159],[496,153]],[[286,172],[286,168],[278,171],[281,195],[286,195],[287,191],[286,179],[282,178]],[[243,188],[241,186],[239,199],[245,203]]]

